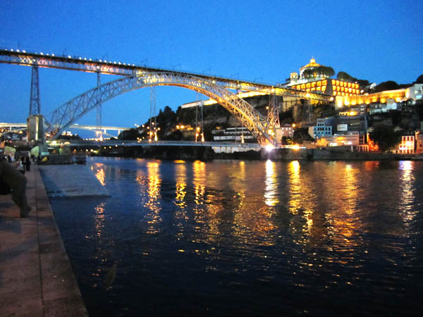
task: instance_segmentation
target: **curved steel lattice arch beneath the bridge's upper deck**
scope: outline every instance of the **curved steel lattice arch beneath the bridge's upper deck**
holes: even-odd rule
[[[274,127],[271,127],[266,118],[247,101],[212,81],[185,73],[171,72],[138,73],[123,77],[106,82],[71,99],[51,113],[48,121],[49,130],[55,132],[51,139],[59,137],[63,130],[66,130],[75,120],[84,116],[98,104],[103,104],[125,92],[149,86],[176,86],[200,92],[216,100],[236,118],[242,119],[245,128],[250,130],[260,145],[264,146],[270,143],[276,146],[276,139],[271,132],[269,133],[269,130],[273,130]]]

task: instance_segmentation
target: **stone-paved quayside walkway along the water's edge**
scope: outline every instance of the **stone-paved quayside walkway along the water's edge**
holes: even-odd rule
[[[88,316],[38,166],[25,175],[28,218],[0,195],[0,316]]]

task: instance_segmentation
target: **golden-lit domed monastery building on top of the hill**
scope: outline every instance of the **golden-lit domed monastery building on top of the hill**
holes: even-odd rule
[[[333,96],[356,96],[361,94],[360,86],[355,82],[331,79],[329,75],[313,73],[313,70],[317,70],[321,66],[312,58],[307,65],[300,68],[300,75],[295,72],[290,74],[290,77],[286,80],[286,86],[305,90],[306,92],[332,94]],[[312,75],[306,76],[305,73],[311,73]]]

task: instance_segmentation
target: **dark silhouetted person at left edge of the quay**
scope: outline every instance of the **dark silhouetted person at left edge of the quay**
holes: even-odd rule
[[[12,190],[12,199],[20,209],[20,216],[26,218],[31,211],[26,198],[26,178],[11,163],[0,158],[0,178]]]

